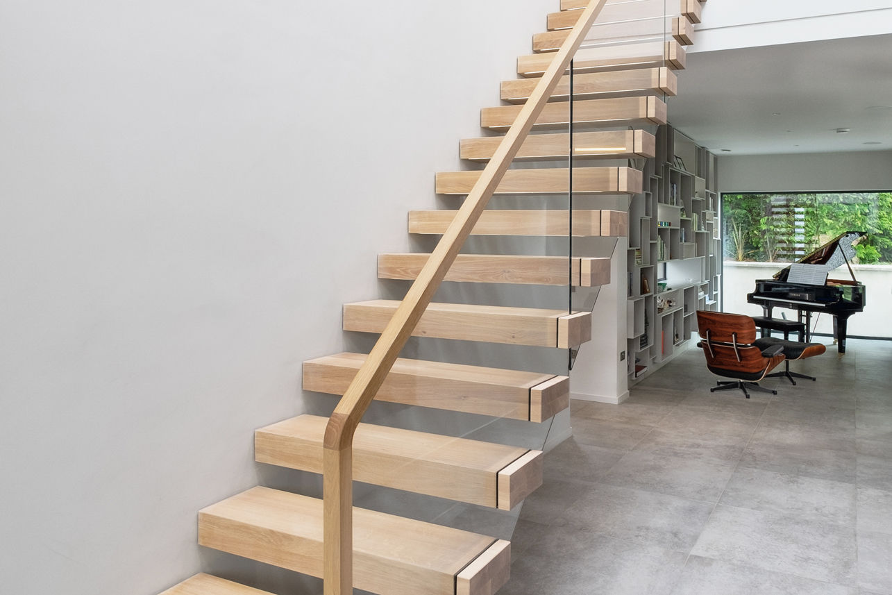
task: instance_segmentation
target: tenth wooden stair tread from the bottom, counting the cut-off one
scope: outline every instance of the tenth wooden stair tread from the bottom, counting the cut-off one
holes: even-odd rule
[[[523,105],[484,107],[480,111],[480,125],[491,130],[507,130],[514,123]],[[666,123],[666,104],[653,95],[642,97],[608,97],[583,99],[573,103],[576,126],[591,125],[651,125]],[[546,103],[534,129],[567,128],[570,122],[570,103]]]

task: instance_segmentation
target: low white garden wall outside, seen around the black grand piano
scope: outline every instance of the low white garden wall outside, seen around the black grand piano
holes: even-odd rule
[[[786,265],[778,262],[735,262],[725,260],[723,272],[723,310],[747,316],[762,316],[762,308],[754,303],[747,303],[747,293],[756,289],[756,279],[770,279],[772,275]],[[863,312],[848,318],[849,336],[892,337],[892,266],[855,265],[855,278],[864,284],[867,292],[867,304]],[[836,269],[830,278],[847,279],[845,267]],[[774,318],[780,318],[784,312],[790,320],[796,319],[796,310],[775,309]],[[815,333],[832,334],[833,318],[826,315],[812,317],[812,330]],[[826,337],[817,337],[815,341],[830,343]]]

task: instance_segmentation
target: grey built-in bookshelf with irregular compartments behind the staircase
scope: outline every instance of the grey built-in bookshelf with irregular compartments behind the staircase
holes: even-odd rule
[[[660,126],[643,173],[644,192],[629,206],[630,386],[688,347],[697,310],[717,310],[722,277],[715,156]]]

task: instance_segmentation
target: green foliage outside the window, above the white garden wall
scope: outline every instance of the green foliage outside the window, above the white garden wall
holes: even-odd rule
[[[892,264],[892,193],[723,194],[726,260],[794,262],[847,231],[866,231],[861,264]]]

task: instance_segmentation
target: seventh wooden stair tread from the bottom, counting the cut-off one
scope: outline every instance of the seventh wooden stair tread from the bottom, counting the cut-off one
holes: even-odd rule
[[[410,234],[442,234],[456,211],[409,211]],[[568,236],[567,211],[488,210],[474,229],[475,236]],[[573,211],[573,235],[577,237],[628,235],[626,211]]]

